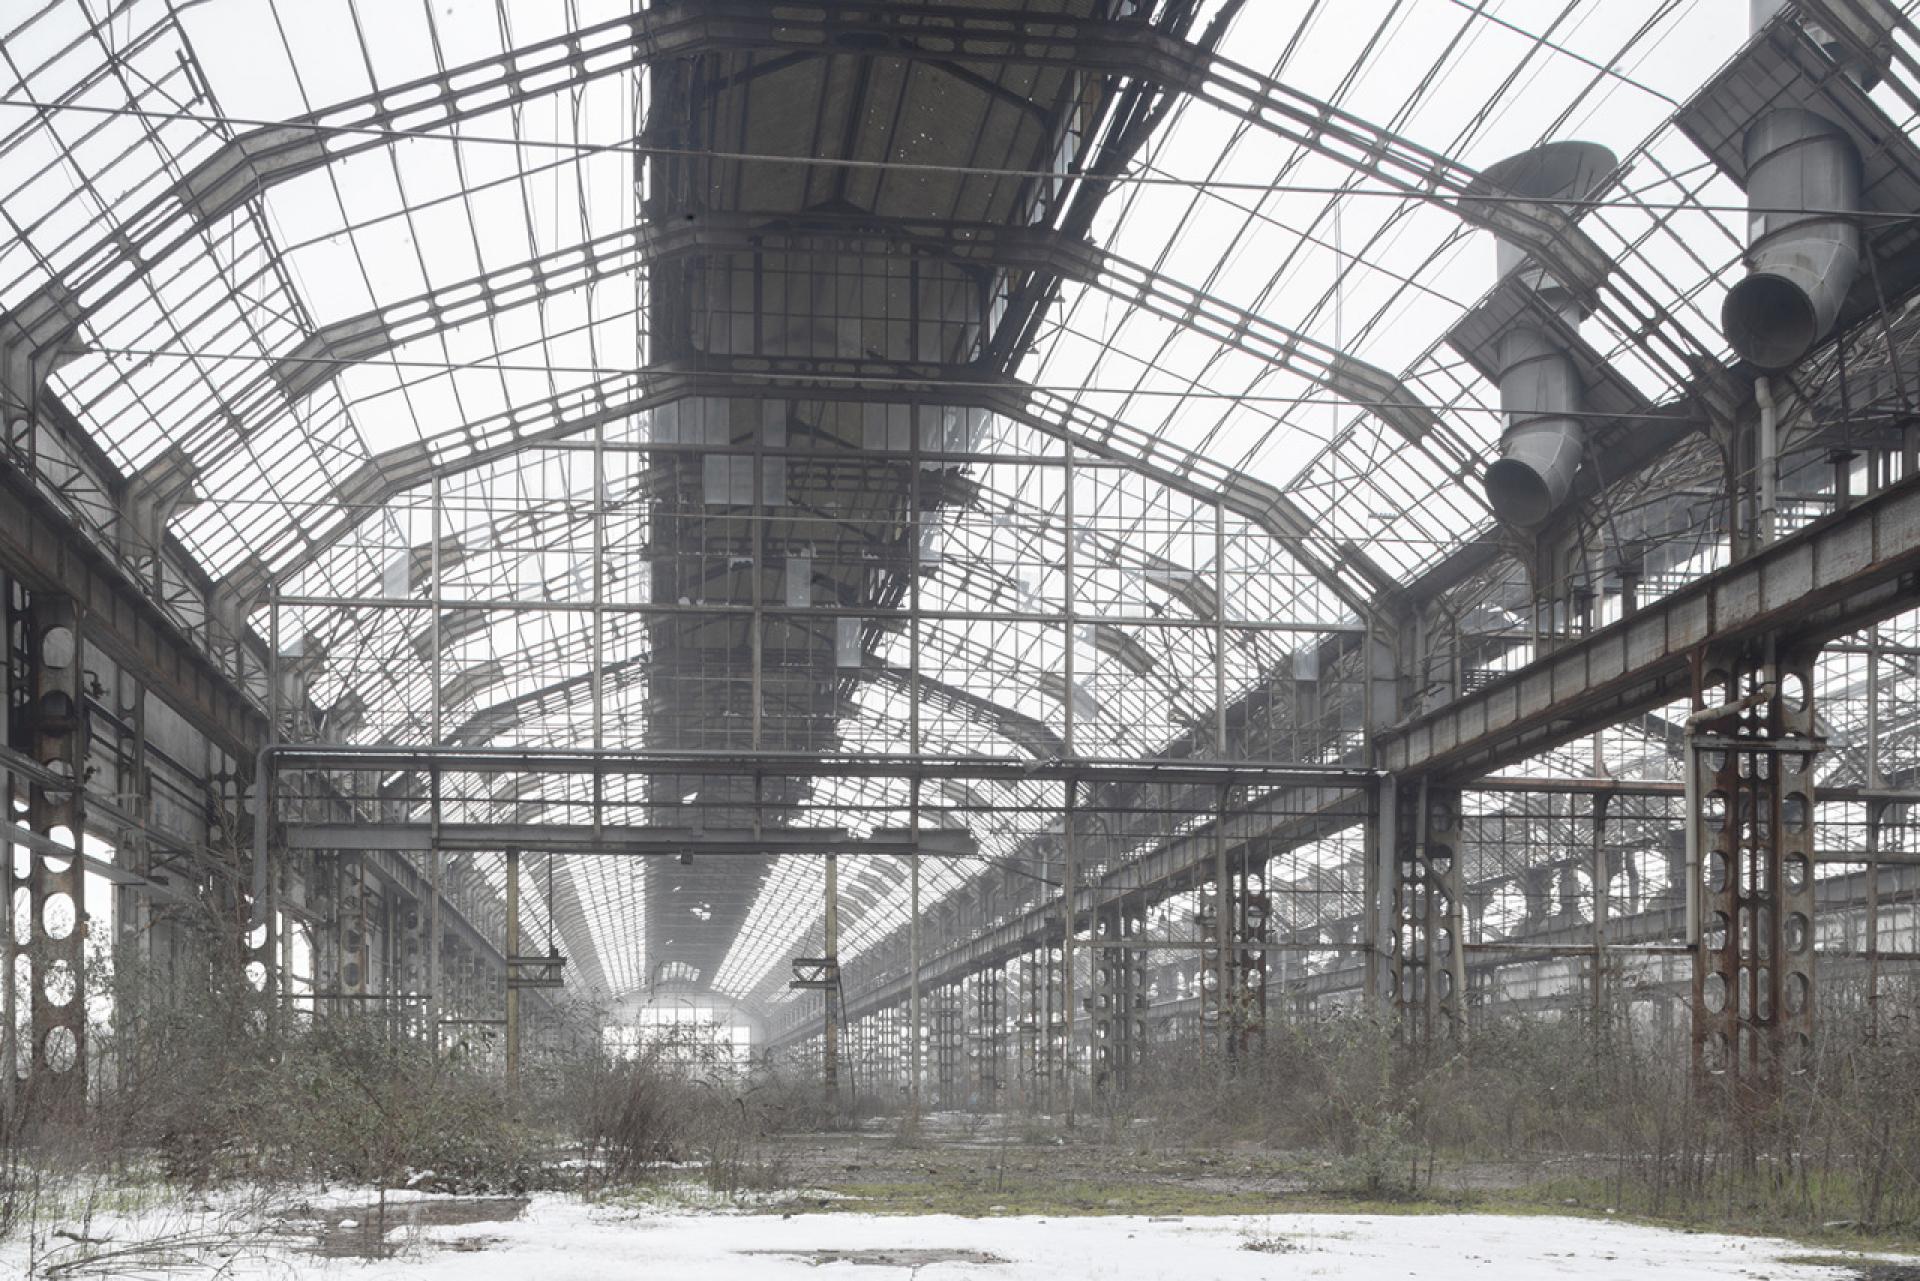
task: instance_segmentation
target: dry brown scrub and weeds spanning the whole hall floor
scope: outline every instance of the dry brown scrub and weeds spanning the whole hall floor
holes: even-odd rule
[[[1127,1093],[1083,1102],[1077,1133],[1014,1110],[947,1118],[929,1137],[900,1116],[872,1127],[872,1148],[912,1164],[945,1135],[966,1162],[939,1156],[920,1162],[939,1175],[899,1181],[885,1162],[858,1177],[828,1168],[824,1185],[849,1200],[803,1208],[1576,1208],[1818,1241],[1920,1237],[1910,997],[1870,1010],[1828,985],[1816,1056],[1764,1102],[1695,1079],[1684,1008],[1653,1016],[1665,1006],[1642,997],[1620,993],[1603,1016],[1480,1012],[1469,1037],[1425,1049],[1367,1014],[1271,1018],[1231,1070],[1158,1045]],[[634,1054],[597,1035],[549,1045],[509,1089],[484,1037],[436,1054],[376,1003],[303,1014],[240,974],[123,968],[109,1004],[86,1108],[38,1106],[44,1081],[29,1081],[0,1114],[0,1235],[58,1220],[84,1237],[98,1212],[182,1189],[313,1179],[712,1204],[791,1187],[781,1135],[847,1122],[808,1074],[739,1070],[697,1035]],[[868,1091],[868,1110],[876,1100],[895,1097]]]

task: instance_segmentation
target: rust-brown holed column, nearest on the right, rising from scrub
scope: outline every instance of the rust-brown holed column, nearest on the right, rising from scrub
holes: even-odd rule
[[[1812,655],[1695,663],[1693,1062],[1764,1100],[1812,1051]]]

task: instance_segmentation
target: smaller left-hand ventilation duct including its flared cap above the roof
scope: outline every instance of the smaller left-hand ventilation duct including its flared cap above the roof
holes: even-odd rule
[[[1548,142],[1492,165],[1473,190],[1572,204],[1592,196],[1613,167],[1613,152],[1597,142]],[[1524,246],[1500,240],[1498,263],[1501,277],[1523,273],[1521,280],[1569,325],[1584,319],[1569,288],[1526,265]],[[1567,501],[1586,447],[1580,371],[1544,326],[1523,321],[1501,334],[1500,409],[1507,426],[1500,457],[1486,469],[1486,501],[1501,520],[1534,526]]]

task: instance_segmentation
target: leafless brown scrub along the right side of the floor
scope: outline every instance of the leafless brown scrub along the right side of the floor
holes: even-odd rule
[[[1622,999],[1603,1018],[1482,1012],[1415,1051],[1373,1018],[1271,1022],[1223,1072],[1158,1049],[1104,1099],[1106,1133],[1160,1150],[1256,1145],[1313,1154],[1315,1193],[1501,1200],[1657,1220],[1920,1235],[1920,1018],[1824,993],[1818,1051],[1776,1097],[1690,1070],[1684,1010]]]

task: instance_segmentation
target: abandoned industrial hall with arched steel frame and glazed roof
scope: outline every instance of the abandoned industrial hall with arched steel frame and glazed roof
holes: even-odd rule
[[[516,1193],[712,1164],[555,1120],[641,1074],[1119,1154],[1354,1054],[1260,1141],[1438,1195],[1555,1039],[1899,1220],[1916,23],[0,6],[0,1166],[290,1177],[186,1118],[300,1062]]]

